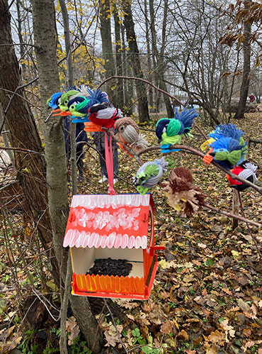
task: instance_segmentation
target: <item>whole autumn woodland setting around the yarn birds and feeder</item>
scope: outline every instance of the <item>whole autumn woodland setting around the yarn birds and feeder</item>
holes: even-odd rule
[[[0,0],[1,352],[262,353],[261,182],[234,204],[253,225],[233,226],[207,208],[179,216],[160,183],[156,242],[166,250],[150,299],[70,295],[62,243],[72,195],[108,186],[89,133],[76,175],[79,140],[69,158],[63,118],[46,104],[73,85],[101,86],[153,146],[156,121],[195,107],[194,137],[166,155],[169,170],[187,167],[207,204],[231,214],[232,188],[199,150],[203,135],[232,122],[261,179],[261,20],[251,0]],[[137,160],[119,149],[117,193],[135,193],[139,162],[159,155],[158,145]]]

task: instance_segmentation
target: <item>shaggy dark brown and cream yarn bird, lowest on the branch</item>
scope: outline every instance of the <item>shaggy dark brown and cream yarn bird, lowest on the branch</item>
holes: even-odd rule
[[[190,171],[184,167],[173,168],[168,181],[163,184],[169,205],[182,216],[192,217],[205,204],[205,196],[201,189],[193,184]]]

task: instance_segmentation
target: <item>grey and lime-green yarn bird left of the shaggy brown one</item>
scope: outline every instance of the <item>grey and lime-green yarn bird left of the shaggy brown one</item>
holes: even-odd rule
[[[161,159],[145,162],[144,165],[139,167],[137,174],[133,177],[137,192],[145,194],[149,188],[154,187],[163,177],[168,165],[169,162],[166,162],[165,158],[161,157]]]

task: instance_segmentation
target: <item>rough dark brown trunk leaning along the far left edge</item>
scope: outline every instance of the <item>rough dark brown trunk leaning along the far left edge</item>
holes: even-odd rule
[[[0,0],[0,43],[11,44],[11,16],[8,1]],[[15,92],[20,85],[18,61],[13,46],[0,47],[0,87]],[[10,92],[9,91],[9,92]],[[19,95],[19,96],[18,96]],[[10,131],[10,143],[14,148],[27,148],[38,154],[15,153],[17,179],[27,201],[28,218],[38,227],[42,246],[50,255],[52,276],[59,284],[59,267],[52,248],[52,231],[47,204],[47,186],[45,182],[45,160],[42,157],[42,143],[35,126],[33,114],[23,99],[25,92],[18,89],[11,104],[9,94],[0,90],[0,101],[6,117],[6,128]]]

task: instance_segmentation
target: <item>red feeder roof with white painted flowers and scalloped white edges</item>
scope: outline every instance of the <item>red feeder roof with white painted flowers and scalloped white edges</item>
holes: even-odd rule
[[[75,195],[63,246],[145,249],[149,210],[151,194]]]

